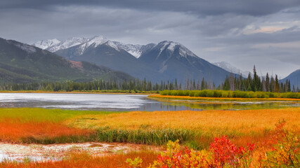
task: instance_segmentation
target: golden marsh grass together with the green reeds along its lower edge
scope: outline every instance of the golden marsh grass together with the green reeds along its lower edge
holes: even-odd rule
[[[87,118],[93,118],[89,120]],[[96,141],[165,144],[179,139],[181,144],[203,149],[214,137],[226,135],[238,145],[264,139],[273,123],[285,118],[287,129],[300,132],[300,108],[244,111],[134,111],[103,116],[70,118],[70,127],[97,130]],[[247,140],[247,141],[246,141]]]

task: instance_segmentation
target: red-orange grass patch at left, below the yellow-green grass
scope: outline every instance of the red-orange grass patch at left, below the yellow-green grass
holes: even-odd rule
[[[91,130],[70,128],[61,123],[0,123],[0,141],[20,143],[22,139],[54,139],[56,137],[89,136]]]

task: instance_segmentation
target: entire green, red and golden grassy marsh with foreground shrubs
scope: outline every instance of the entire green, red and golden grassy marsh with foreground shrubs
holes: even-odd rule
[[[236,148],[230,154],[235,157],[226,162],[230,163],[239,157],[249,159],[253,155],[256,161],[252,164],[272,166],[273,162],[275,164],[279,162],[278,157],[282,157],[285,160],[282,159],[280,164],[288,165],[286,160],[289,162],[292,160],[292,163],[296,160],[295,162],[298,163],[297,158],[300,159],[299,118],[300,108],[242,111],[132,111],[124,113],[37,108],[0,109],[0,141],[20,144],[103,141],[164,146],[170,140],[178,140],[183,146],[202,150],[187,156],[182,155],[178,151],[179,149],[176,149],[178,155],[182,155],[182,160],[197,160],[197,157],[193,157],[200,155],[200,158],[204,157],[205,160],[211,162],[211,165],[226,164],[226,160],[220,161],[219,158],[214,158],[214,155],[219,155],[216,154],[217,150],[219,148]],[[283,119],[286,121],[285,129],[293,132],[293,134],[289,133],[287,138],[285,138],[284,131],[278,134],[278,126],[275,127],[275,124]],[[279,141],[278,135],[284,140]],[[222,136],[226,136],[226,138],[216,139],[216,137]],[[268,146],[270,139],[276,146]],[[252,152],[247,147],[249,143],[260,143],[261,147],[256,146],[258,149]],[[214,150],[211,149],[212,145]],[[237,146],[242,147],[237,148]],[[278,148],[278,153],[272,151],[272,148]],[[292,157],[296,157],[296,159],[289,158],[289,153],[291,153],[289,148],[292,148]],[[174,153],[174,150],[172,149],[171,153]],[[247,154],[246,151],[252,154]],[[185,153],[189,152],[185,151]],[[230,153],[230,151],[228,152]],[[26,160],[24,163],[1,162],[0,167],[129,167],[129,164],[125,162],[126,158],[136,157],[143,160],[141,167],[147,167],[157,159],[156,156],[157,152],[155,151],[120,153],[105,157],[92,156],[87,153],[70,153],[69,157],[58,162],[27,162]],[[263,158],[260,159],[260,157]],[[261,160],[267,161],[262,162]],[[239,162],[244,162],[244,160],[241,159]],[[161,167],[153,165],[153,167]]]

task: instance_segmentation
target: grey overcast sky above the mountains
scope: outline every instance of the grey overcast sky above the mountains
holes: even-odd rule
[[[299,0],[3,0],[0,37],[176,41],[209,62],[284,78],[300,69]]]

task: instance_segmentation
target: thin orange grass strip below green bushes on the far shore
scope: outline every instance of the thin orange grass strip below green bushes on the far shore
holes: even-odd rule
[[[300,102],[300,99],[289,98],[231,98],[231,97],[189,97],[189,96],[165,96],[165,95],[149,95],[150,98],[158,99],[188,99],[188,100],[223,100],[223,101],[294,101]]]

